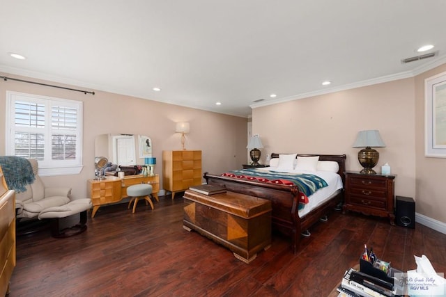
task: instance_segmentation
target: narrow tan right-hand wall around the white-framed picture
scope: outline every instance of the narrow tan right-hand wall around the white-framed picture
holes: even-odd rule
[[[446,64],[415,77],[416,211],[446,223],[446,159],[424,156],[424,79],[446,72]]]

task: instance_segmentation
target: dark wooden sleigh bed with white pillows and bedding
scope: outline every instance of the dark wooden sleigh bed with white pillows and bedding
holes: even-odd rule
[[[291,161],[291,159],[293,160]],[[325,193],[323,198],[318,199],[313,198],[321,190],[317,190],[311,195],[302,195],[304,190],[300,186],[287,182],[289,179],[283,178],[282,175],[282,173],[288,175],[289,172],[316,175],[319,172],[319,167],[316,168],[315,172],[307,172],[307,170],[312,171],[308,167],[314,169],[314,159],[317,159],[317,166],[323,164],[332,172],[337,170],[335,172],[337,173],[336,189],[331,193]],[[220,175],[212,175],[206,172],[203,177],[207,184],[224,186],[228,191],[270,200],[272,204],[272,228],[291,238],[291,250],[296,253],[300,244],[301,233],[308,230],[320,218],[327,216],[329,211],[344,200],[345,161],[345,154],[271,154],[270,168],[234,170]],[[281,176],[272,179],[270,175],[272,171],[278,172]],[[269,182],[261,180],[263,172],[265,172],[265,175],[269,174],[266,178]],[[306,198],[308,199],[305,202]]]

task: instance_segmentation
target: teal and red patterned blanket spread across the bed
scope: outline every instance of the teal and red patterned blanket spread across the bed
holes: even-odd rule
[[[312,195],[314,192],[318,191],[320,188],[325,188],[328,186],[325,179],[318,177],[317,175],[310,175],[307,173],[288,173],[288,172],[277,172],[270,170],[256,170],[256,169],[244,169],[244,170],[231,170],[236,176],[246,176],[246,177],[256,177],[261,180],[261,182],[272,182],[286,184],[285,181],[292,182],[298,186],[299,191],[304,193],[307,197]]]

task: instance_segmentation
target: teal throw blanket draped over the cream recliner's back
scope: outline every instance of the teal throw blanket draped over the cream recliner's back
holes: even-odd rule
[[[0,156],[0,166],[8,188],[17,193],[26,191],[26,185],[36,179],[31,163],[20,156]]]

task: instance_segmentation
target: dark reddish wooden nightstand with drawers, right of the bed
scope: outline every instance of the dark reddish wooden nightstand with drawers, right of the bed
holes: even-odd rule
[[[394,179],[395,175],[364,175],[360,172],[345,172],[345,211],[358,211],[371,216],[383,216],[394,225]]]

